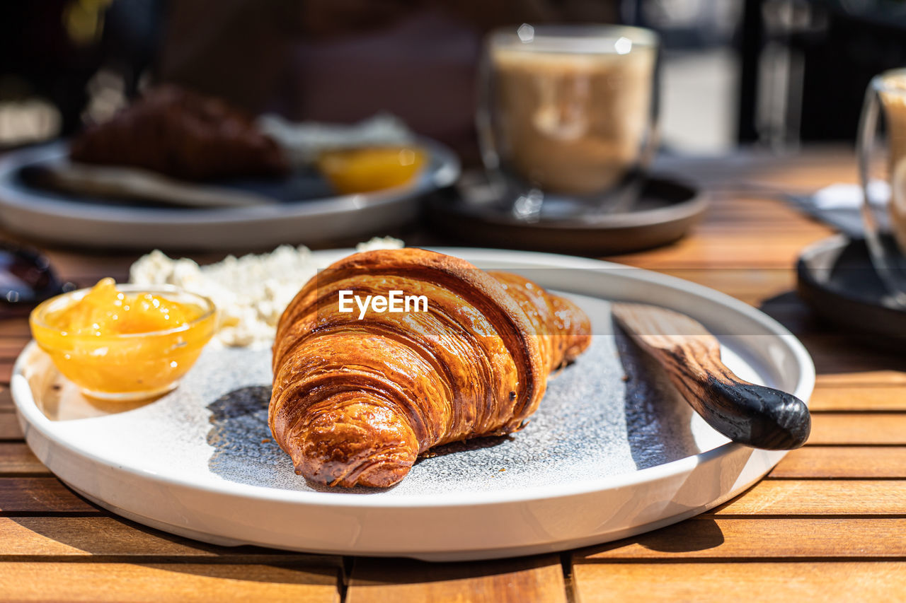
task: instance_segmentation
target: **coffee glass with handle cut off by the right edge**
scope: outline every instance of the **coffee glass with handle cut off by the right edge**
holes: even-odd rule
[[[872,263],[892,303],[906,307],[906,69],[883,72],[869,83],[857,155]]]

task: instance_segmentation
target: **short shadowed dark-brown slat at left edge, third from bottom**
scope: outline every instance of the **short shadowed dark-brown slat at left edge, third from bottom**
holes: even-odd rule
[[[0,477],[0,513],[97,512],[55,477]]]

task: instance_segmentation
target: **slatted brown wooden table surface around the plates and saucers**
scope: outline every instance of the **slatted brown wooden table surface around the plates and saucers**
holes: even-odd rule
[[[777,198],[854,181],[852,153],[674,160],[714,203],[695,233],[618,262],[762,308],[818,372],[808,445],[677,525],[591,549],[429,564],[220,548],[122,520],[70,492],[27,445],[8,383],[28,339],[0,321],[0,599],[294,601],[906,600],[906,355],[866,349],[796,300],[796,254],[830,234]],[[130,254],[50,252],[66,279],[124,279]],[[206,257],[214,260],[217,257]]]

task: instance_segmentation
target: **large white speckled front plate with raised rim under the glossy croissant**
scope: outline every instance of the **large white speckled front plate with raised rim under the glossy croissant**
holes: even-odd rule
[[[12,380],[25,438],[73,489],[161,530],[218,544],[426,560],[564,550],[651,530],[727,501],[785,454],[728,443],[660,378],[641,378],[650,363],[612,334],[605,300],[686,312],[718,334],[741,377],[807,400],[812,361],[765,314],[618,264],[439,251],[525,273],[592,315],[592,349],[551,379],[532,422],[508,439],[451,445],[454,453],[420,461],[387,491],[313,488],[273,442],[262,442],[270,438],[268,349],[210,347],[169,396],[111,407],[85,400],[34,343]]]

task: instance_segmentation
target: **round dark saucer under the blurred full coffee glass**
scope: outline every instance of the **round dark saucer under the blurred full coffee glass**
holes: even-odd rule
[[[631,210],[563,220],[525,222],[501,209],[487,182],[463,178],[458,190],[430,196],[428,217],[448,235],[490,247],[567,254],[605,255],[641,251],[682,238],[708,198],[689,183],[649,177]]]

